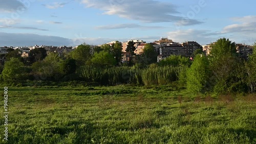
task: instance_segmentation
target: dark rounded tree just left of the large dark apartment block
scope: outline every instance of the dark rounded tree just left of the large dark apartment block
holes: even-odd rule
[[[144,53],[142,54],[145,64],[152,64],[157,62],[157,52],[152,44],[147,43],[144,46]]]

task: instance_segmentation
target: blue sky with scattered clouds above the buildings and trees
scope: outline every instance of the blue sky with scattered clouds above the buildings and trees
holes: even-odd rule
[[[103,44],[167,37],[254,44],[256,1],[0,0],[0,46]]]

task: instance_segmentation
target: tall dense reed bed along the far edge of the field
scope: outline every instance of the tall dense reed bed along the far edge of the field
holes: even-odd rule
[[[165,85],[178,80],[179,67],[156,66],[139,67],[109,67],[99,68],[85,66],[80,75],[88,82],[97,82],[102,85],[144,84]]]

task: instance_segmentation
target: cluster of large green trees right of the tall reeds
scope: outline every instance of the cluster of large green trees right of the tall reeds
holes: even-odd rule
[[[236,53],[236,44],[219,39],[210,56],[197,55],[181,75],[192,92],[233,93],[256,91],[256,51],[245,60]],[[186,79],[186,80],[184,80]]]

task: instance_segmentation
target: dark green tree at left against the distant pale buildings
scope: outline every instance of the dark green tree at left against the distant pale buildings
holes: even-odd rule
[[[40,48],[31,50],[29,52],[28,60],[29,60],[30,64],[32,64],[34,62],[42,61],[46,56],[47,56],[46,49],[40,47]]]

